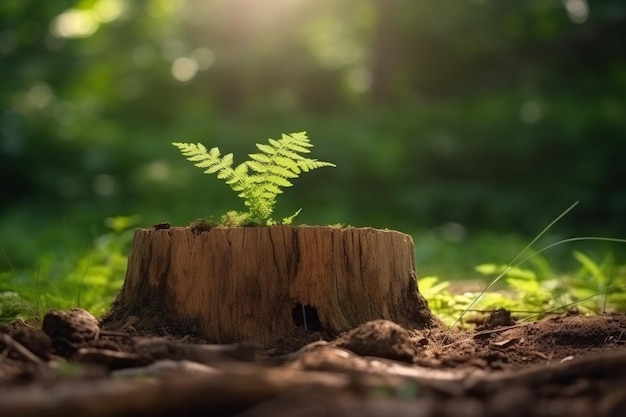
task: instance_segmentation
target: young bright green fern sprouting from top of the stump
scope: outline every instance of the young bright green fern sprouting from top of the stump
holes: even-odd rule
[[[276,224],[272,213],[276,197],[283,192],[281,187],[291,187],[291,180],[298,178],[301,172],[335,166],[300,155],[311,152],[309,148],[313,147],[306,132],[283,134],[279,140],[269,139],[268,144],[257,144],[261,152],[248,155],[250,160],[236,167],[233,167],[233,154],[222,156],[217,147],[207,150],[201,143],[173,142],[172,145],[195,166],[205,169],[206,174],[217,174],[217,178],[226,181],[243,198],[248,211],[226,213],[222,224],[228,226]],[[282,223],[290,224],[300,210],[285,217]]]

